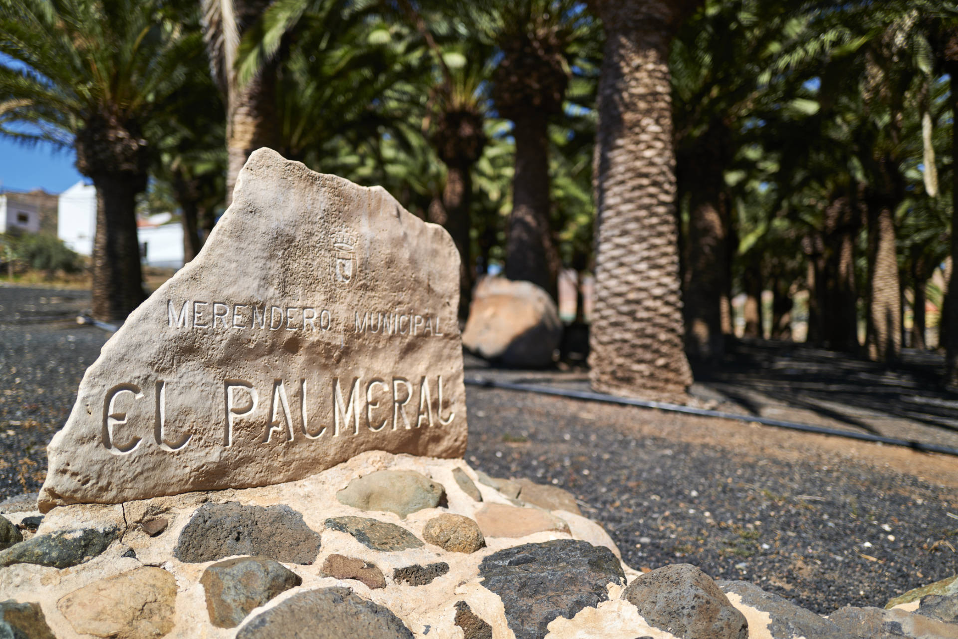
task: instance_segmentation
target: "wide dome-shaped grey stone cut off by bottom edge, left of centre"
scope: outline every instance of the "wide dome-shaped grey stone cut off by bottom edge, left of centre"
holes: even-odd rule
[[[349,588],[300,592],[239,628],[237,639],[413,639],[395,614]]]

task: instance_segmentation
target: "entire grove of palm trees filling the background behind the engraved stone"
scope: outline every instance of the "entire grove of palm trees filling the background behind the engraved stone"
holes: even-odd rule
[[[100,319],[143,299],[138,202],[169,194],[192,257],[265,146],[445,225],[464,316],[490,264],[554,296],[561,268],[594,273],[598,390],[680,398],[733,295],[746,335],[788,338],[798,291],[810,342],[889,364],[926,347],[930,298],[958,384],[958,279],[930,284],[958,259],[951,3],[0,8],[0,131],[96,185]]]

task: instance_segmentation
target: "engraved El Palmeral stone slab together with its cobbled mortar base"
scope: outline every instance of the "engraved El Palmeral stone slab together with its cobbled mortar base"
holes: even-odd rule
[[[39,503],[0,503],[0,637],[861,635],[691,565],[641,575],[573,495],[469,468],[442,228],[268,149],[233,202],[87,371]]]

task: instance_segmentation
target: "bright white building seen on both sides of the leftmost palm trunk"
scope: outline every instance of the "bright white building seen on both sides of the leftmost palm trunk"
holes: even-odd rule
[[[80,253],[93,254],[97,231],[97,189],[77,182],[59,196],[57,236]],[[183,226],[166,223],[170,214],[152,216],[137,226],[140,255],[148,266],[179,268],[183,265]]]

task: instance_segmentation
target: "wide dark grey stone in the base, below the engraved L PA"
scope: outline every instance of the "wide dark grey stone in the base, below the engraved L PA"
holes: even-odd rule
[[[284,504],[243,506],[203,504],[180,533],[173,557],[180,561],[215,561],[233,555],[262,555],[289,563],[312,563],[320,536],[303,515]]]

